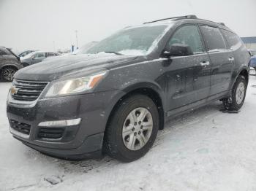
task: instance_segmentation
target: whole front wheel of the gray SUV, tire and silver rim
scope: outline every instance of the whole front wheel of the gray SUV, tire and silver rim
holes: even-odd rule
[[[105,131],[103,151],[126,163],[146,155],[159,129],[159,113],[151,98],[132,95],[122,100],[111,116]]]

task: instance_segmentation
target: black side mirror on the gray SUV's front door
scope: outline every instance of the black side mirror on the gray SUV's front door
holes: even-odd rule
[[[163,55],[170,56],[186,56],[193,55],[191,48],[186,44],[173,44],[169,50],[165,50]]]

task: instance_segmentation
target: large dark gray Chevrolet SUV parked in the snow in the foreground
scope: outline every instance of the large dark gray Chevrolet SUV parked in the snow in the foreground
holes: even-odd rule
[[[230,28],[194,15],[127,27],[83,54],[18,71],[10,132],[47,155],[136,160],[171,117],[217,100],[240,109],[249,58]]]

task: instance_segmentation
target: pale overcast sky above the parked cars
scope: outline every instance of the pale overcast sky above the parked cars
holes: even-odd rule
[[[255,0],[0,0],[0,46],[69,49],[125,26],[178,15],[224,22],[239,36],[256,36]]]

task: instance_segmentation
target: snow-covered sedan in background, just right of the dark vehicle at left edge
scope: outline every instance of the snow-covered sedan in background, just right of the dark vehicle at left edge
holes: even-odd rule
[[[43,60],[45,60],[45,58],[50,58],[57,55],[60,55],[60,54],[58,52],[51,52],[51,51],[35,51],[20,58],[20,62],[24,67],[26,67],[34,63],[42,62]]]

